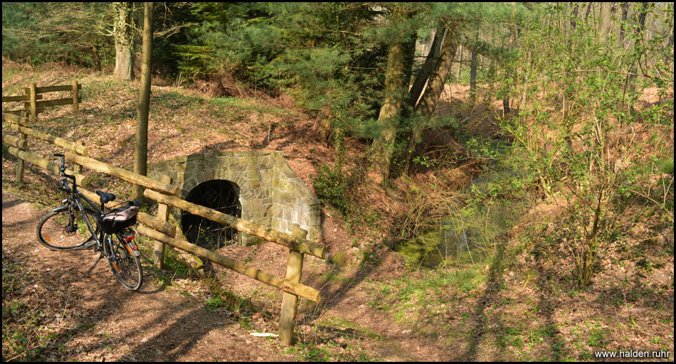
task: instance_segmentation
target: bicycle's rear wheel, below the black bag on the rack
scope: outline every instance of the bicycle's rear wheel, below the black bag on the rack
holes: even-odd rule
[[[136,291],[143,284],[141,259],[132,253],[130,245],[119,234],[103,235],[103,254],[108,259],[115,278],[130,291]]]

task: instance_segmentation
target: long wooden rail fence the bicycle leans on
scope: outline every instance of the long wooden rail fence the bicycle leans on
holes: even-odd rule
[[[300,227],[295,227],[295,229],[292,231],[292,234],[288,234],[286,232],[280,232],[264,225],[258,225],[246,220],[242,220],[241,218],[226,215],[217,210],[212,210],[211,208],[196,205],[186,200],[181,200],[181,198],[176,197],[179,195],[179,187],[171,185],[171,178],[169,178],[169,176],[163,176],[161,181],[156,181],[152,178],[141,176],[137,173],[111,166],[110,164],[106,164],[102,161],[89,158],[87,156],[86,149],[80,149],[78,151],[80,146],[73,141],[54,137],[25,126],[21,126],[18,124],[18,121],[21,120],[19,117],[6,117],[6,114],[3,113],[3,120],[11,122],[12,124],[10,127],[14,131],[30,135],[32,137],[36,137],[43,141],[48,141],[49,143],[68,149],[69,151],[66,151],[64,155],[65,159],[70,162],[76,163],[80,166],[85,166],[86,168],[93,169],[94,171],[107,173],[110,176],[114,176],[124,181],[128,181],[130,183],[147,188],[144,191],[144,196],[152,200],[156,200],[159,204],[159,208],[156,216],[152,216],[147,213],[139,213],[138,220],[140,224],[137,226],[137,232],[151,237],[156,241],[153,250],[153,262],[155,264],[158,264],[160,267],[163,266],[164,246],[171,245],[172,247],[176,247],[199,257],[209,259],[211,262],[219,264],[222,267],[226,267],[240,274],[244,274],[245,276],[256,279],[259,282],[263,282],[272,287],[281,289],[283,291],[283,295],[280,310],[279,336],[280,343],[282,343],[282,345],[288,346],[292,342],[298,297],[304,297],[305,299],[309,299],[310,301],[317,303],[321,301],[321,295],[319,291],[300,283],[300,278],[302,275],[303,255],[308,254],[319,257],[320,259],[324,259],[326,255],[326,247],[310,240],[306,240],[305,237],[307,235],[307,231],[300,229]],[[19,158],[19,161],[28,161],[29,163],[41,166],[52,173],[58,173],[58,166],[56,166],[56,164],[29,153],[25,148],[21,149],[21,146],[25,147],[25,142],[22,142],[20,138],[11,135],[5,135],[3,133],[2,141],[9,145],[9,153]],[[67,171],[67,173],[74,172]],[[88,178],[82,176],[80,172],[75,173],[75,176],[75,182],[78,183],[78,186],[80,186],[80,191],[82,191],[85,196],[90,198],[90,200],[93,200],[95,203],[100,203],[99,196],[85,189],[88,183]],[[110,207],[112,204],[114,203],[108,203],[107,206]],[[169,217],[169,208],[178,208],[194,215],[199,215],[208,220],[227,225],[231,228],[236,228],[242,232],[248,232],[249,234],[261,237],[268,242],[274,242],[276,244],[288,247],[289,255],[285,277],[278,277],[275,274],[265,272],[262,269],[251,267],[237,259],[226,257],[225,255],[204,249],[203,247],[199,247],[198,245],[194,245],[191,242],[184,240],[181,234],[176,232],[176,226],[171,225],[167,221],[167,218]]]

